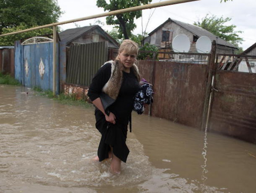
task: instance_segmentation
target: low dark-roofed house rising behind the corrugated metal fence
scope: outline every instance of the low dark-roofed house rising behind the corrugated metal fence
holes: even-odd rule
[[[65,30],[59,33],[62,42],[66,42],[67,47],[71,44],[87,44],[93,42],[108,41],[109,48],[118,48],[119,44],[100,26],[84,26]]]

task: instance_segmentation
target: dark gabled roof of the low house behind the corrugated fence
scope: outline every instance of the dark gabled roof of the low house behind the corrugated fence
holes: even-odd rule
[[[72,42],[74,39],[79,38],[84,33],[87,33],[90,30],[94,30],[95,28],[98,28],[98,30],[101,31],[101,35],[105,36],[109,41],[111,41],[114,45],[117,45],[117,47],[118,47],[118,42],[116,40],[114,40],[108,33],[106,33],[98,25],[84,26],[84,27],[68,29],[68,30],[65,30],[65,31],[59,33],[59,36],[60,36],[61,41],[69,43],[69,42]]]

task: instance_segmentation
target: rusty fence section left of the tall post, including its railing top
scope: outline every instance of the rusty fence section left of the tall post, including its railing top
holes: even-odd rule
[[[109,49],[108,59],[114,60],[117,54],[117,49]],[[154,103],[144,113],[204,128],[211,86],[211,54],[139,51],[139,56],[144,58],[138,60],[139,71],[153,84],[155,92]]]

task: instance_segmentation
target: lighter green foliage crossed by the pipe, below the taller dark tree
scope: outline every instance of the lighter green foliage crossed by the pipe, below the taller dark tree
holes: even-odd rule
[[[36,26],[27,26],[25,24],[20,24],[19,26],[12,27],[12,28],[3,28],[2,30],[3,30],[3,33],[5,34],[5,33],[11,33],[11,32],[20,31],[20,30],[25,30],[30,27],[36,27]],[[0,37],[0,45],[12,46],[14,45],[14,42],[16,40],[26,39],[34,36],[42,36],[42,35],[52,34],[52,33],[53,33],[53,30],[51,28],[42,28],[39,30],[18,33],[10,36],[3,36],[3,37]]]

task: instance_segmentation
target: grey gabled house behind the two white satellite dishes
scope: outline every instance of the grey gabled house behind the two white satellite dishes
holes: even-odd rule
[[[179,34],[185,34],[188,36],[191,46],[189,52],[197,52],[195,43],[201,36],[207,36],[211,41],[215,40],[217,43],[218,54],[234,54],[238,48],[225,40],[215,36],[211,32],[195,25],[183,23],[177,20],[168,18],[164,23],[158,26],[155,30],[150,32],[144,39],[146,42],[156,45],[160,49],[171,49],[173,38]],[[142,40],[143,41],[143,40]]]

